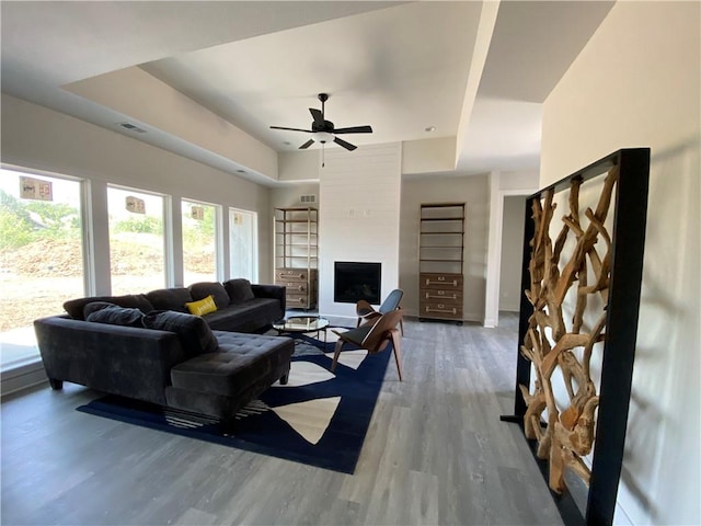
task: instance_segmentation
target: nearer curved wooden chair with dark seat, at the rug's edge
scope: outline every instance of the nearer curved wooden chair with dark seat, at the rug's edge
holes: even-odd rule
[[[336,332],[338,341],[333,354],[331,371],[336,370],[338,355],[346,343],[352,343],[360,348],[365,348],[369,354],[376,354],[384,351],[391,342],[394,350],[394,362],[397,362],[397,371],[399,379],[402,381],[402,335],[397,325],[402,322],[404,311],[394,309],[380,317],[374,323],[366,323],[357,329],[350,329],[347,332]]]

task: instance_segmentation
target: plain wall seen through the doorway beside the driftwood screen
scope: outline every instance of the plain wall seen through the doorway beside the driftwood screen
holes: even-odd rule
[[[524,210],[526,197],[504,197],[502,258],[499,270],[499,310],[518,312],[521,295],[524,254]]]

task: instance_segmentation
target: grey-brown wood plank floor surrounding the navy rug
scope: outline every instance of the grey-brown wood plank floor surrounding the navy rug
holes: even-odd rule
[[[562,524],[499,422],[516,327],[406,321],[353,476],[81,413],[99,393],[71,384],[8,397],[2,524]]]

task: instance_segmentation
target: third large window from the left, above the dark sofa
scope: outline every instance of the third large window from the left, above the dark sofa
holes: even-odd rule
[[[217,207],[183,201],[183,277],[185,285],[217,281]]]

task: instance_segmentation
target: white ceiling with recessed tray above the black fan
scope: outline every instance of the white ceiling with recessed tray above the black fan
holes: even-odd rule
[[[503,1],[495,22],[480,1],[0,5],[2,91],[20,99],[126,134],[115,123],[138,124],[141,115],[66,87],[139,66],[267,147],[294,151],[309,136],[269,126],[309,128],[308,108],[320,107],[323,91],[336,127],[374,128],[344,139],[459,137],[457,171],[470,174],[538,169],[541,103],[612,2]],[[139,85],[129,95],[148,96]],[[166,130],[133,137],[241,169]]]

